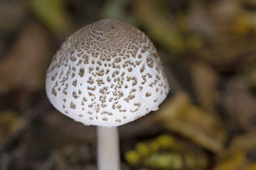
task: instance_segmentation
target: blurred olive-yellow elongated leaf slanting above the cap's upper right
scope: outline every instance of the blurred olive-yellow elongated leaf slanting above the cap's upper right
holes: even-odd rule
[[[185,48],[183,37],[174,23],[171,23],[164,12],[157,8],[157,3],[159,1],[137,0],[135,1],[135,14],[149,34],[159,43],[173,50],[172,52],[183,52]]]

